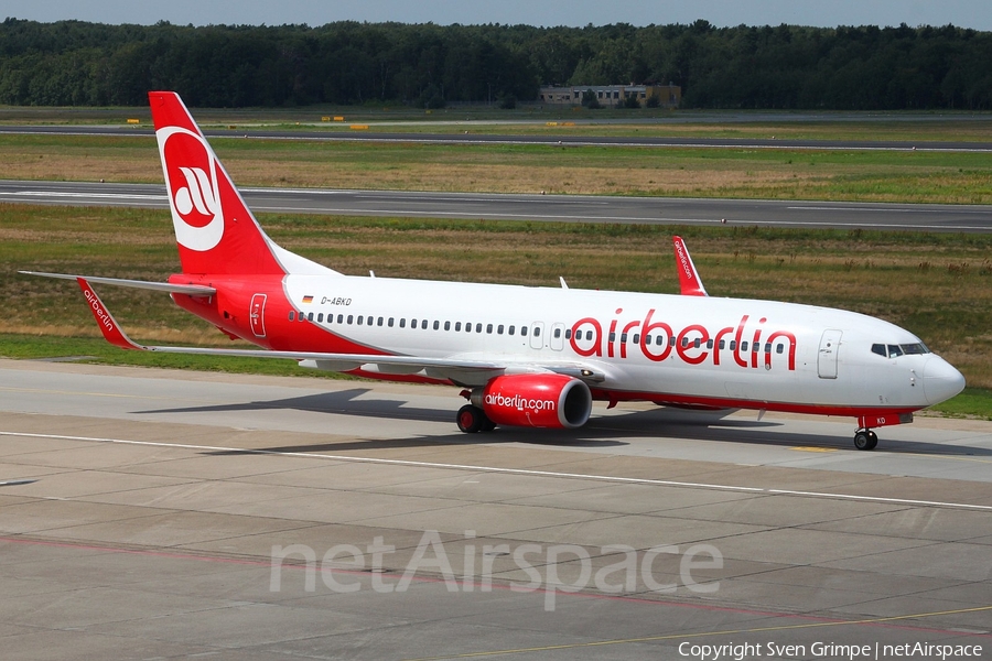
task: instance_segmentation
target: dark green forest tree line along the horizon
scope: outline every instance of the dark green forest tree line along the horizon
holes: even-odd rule
[[[0,23],[0,104],[533,100],[540,85],[675,84],[683,107],[992,108],[992,33],[942,28]]]

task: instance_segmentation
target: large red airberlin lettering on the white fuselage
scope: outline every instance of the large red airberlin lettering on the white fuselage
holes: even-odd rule
[[[615,314],[619,317],[623,312],[619,308]],[[644,319],[611,319],[605,333],[604,324],[599,319],[581,318],[572,325],[569,343],[580,356],[602,357],[605,354],[607,358],[626,358],[629,343],[624,340],[633,336],[640,354],[655,362],[676,354],[689,365],[700,365],[707,360],[720,365],[723,360],[752,369],[756,369],[759,364],[770,369],[772,355],[778,354],[777,347],[783,345],[783,358],[788,357],[788,369],[796,369],[796,336],[788,330],[765,327],[765,317],[753,322],[745,314],[735,326],[725,326],[714,332],[701,324],[673,328],[668,322],[657,321],[656,312],[655,308],[648,310]]]

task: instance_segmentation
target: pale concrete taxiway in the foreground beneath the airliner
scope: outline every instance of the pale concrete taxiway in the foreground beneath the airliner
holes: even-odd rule
[[[459,404],[0,360],[4,653],[989,655],[992,423],[865,453],[848,420],[629,405],[468,436]]]

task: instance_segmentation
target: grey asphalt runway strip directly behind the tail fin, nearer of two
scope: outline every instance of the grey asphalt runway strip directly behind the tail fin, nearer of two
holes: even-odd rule
[[[487,220],[992,231],[983,205],[241,188],[259,213]],[[160,184],[0,181],[0,202],[168,208]],[[725,221],[725,223],[724,223]]]

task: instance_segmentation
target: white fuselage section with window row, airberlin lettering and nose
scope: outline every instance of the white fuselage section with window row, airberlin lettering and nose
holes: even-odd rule
[[[339,274],[288,275],[284,290],[321,328],[391,355],[595,366],[600,399],[850,414],[916,410],[960,390],[932,354],[872,351],[921,346],[916,336],[840,310]]]

